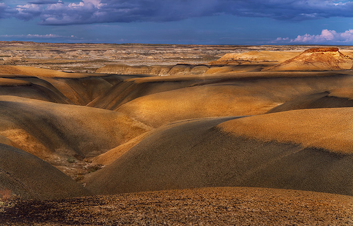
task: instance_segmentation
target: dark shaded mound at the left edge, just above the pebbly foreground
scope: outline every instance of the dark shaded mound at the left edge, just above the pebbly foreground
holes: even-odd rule
[[[89,194],[83,186],[48,163],[0,143],[0,191],[5,189],[22,199],[59,199]]]

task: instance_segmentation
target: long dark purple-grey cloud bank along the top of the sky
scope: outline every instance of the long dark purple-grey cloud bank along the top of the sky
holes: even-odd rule
[[[0,3],[0,18],[16,17],[22,20],[39,18],[43,25],[163,22],[220,14],[267,17],[276,20],[353,17],[353,1],[82,0],[70,3],[55,0],[33,0],[23,2],[23,5],[15,7]]]

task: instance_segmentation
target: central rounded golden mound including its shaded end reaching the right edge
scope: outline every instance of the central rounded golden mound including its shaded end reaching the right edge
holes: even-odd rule
[[[282,73],[282,77],[279,74],[278,77],[268,77],[263,72],[254,72],[258,78],[221,75],[219,80],[207,80],[204,77],[205,80],[203,83],[200,81],[200,85],[142,96],[121,106],[116,104],[119,107],[113,110],[149,126],[158,127],[190,118],[264,114],[303,95],[353,86],[353,77],[350,75],[316,73],[301,77],[301,74],[292,73],[290,77],[285,72],[278,73]],[[253,73],[239,74],[250,76]],[[197,84],[197,81],[194,82]],[[113,103],[111,101],[108,106],[115,107]]]

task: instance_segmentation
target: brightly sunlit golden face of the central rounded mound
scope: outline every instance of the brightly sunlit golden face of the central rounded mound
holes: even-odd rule
[[[173,121],[214,116],[257,115],[278,103],[254,90],[232,84],[196,86],[157,93],[132,100],[117,112],[152,127]]]

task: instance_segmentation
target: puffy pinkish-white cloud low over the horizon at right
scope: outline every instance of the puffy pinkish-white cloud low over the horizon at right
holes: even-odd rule
[[[297,38],[277,38],[275,43],[317,43],[317,44],[348,44],[353,43],[353,29],[344,32],[324,29],[319,35],[298,35]]]

